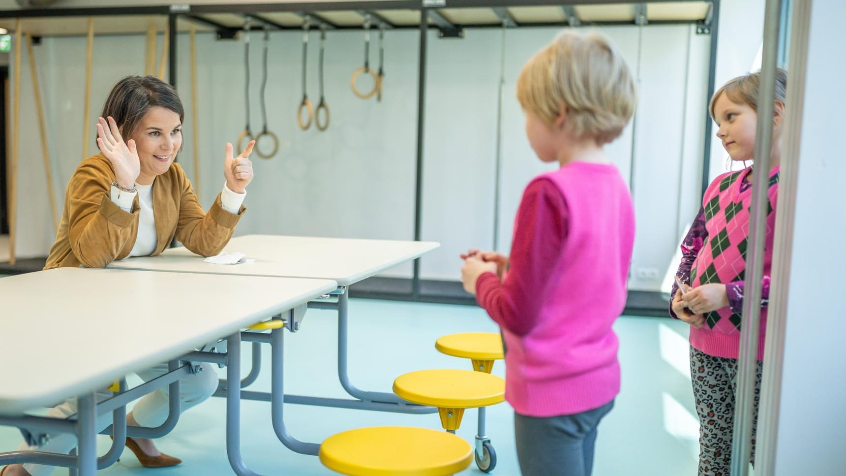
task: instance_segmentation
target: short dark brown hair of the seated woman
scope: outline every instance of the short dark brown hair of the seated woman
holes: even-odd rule
[[[182,101],[173,86],[156,76],[127,76],[109,92],[101,116],[112,116],[121,136],[129,140],[147,111],[156,107],[178,113],[179,122],[185,118]]]

